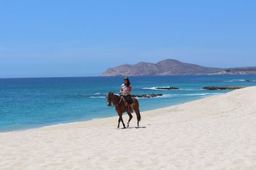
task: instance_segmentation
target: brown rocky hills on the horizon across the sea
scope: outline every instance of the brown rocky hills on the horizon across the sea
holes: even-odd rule
[[[157,62],[139,62],[108,68],[101,76],[163,76],[185,74],[256,74],[256,67],[218,68],[166,59]]]

